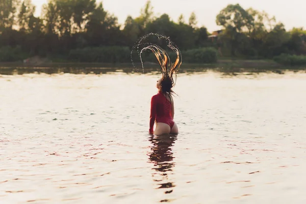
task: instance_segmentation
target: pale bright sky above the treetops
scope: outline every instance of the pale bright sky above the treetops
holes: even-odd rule
[[[32,0],[37,6],[36,15],[40,15],[41,6],[47,0]],[[97,0],[97,2],[100,2]],[[103,0],[104,9],[118,17],[123,24],[127,15],[137,17],[146,0]],[[275,16],[277,21],[285,24],[286,29],[303,27],[306,29],[306,1],[305,0],[151,0],[155,15],[167,13],[172,20],[177,22],[181,14],[188,21],[191,12],[195,12],[198,25],[204,25],[208,31],[218,30],[216,15],[228,4],[240,4],[244,9],[252,7],[256,10],[264,10],[269,15]]]

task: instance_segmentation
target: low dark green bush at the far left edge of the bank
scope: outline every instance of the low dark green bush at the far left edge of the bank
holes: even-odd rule
[[[20,46],[11,47],[4,46],[0,47],[0,62],[16,62],[23,60],[24,56]]]

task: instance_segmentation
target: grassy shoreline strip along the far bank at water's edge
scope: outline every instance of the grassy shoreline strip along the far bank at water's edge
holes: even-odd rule
[[[138,69],[141,68],[141,64],[136,64]],[[154,71],[159,68],[157,63],[145,62],[144,67],[147,71]],[[134,67],[132,63],[79,63],[79,62],[41,62],[41,63],[23,63],[23,62],[0,62],[0,69],[53,69],[53,68],[66,68],[66,69],[99,69],[99,70],[113,70],[124,69],[126,71],[133,71]],[[253,70],[253,71],[265,71],[265,70],[306,70],[306,66],[286,66],[278,64],[273,60],[241,60],[241,59],[220,59],[216,63],[212,64],[193,64],[182,63],[180,70],[197,71],[199,69],[215,69],[225,71],[238,71],[239,70]]]

